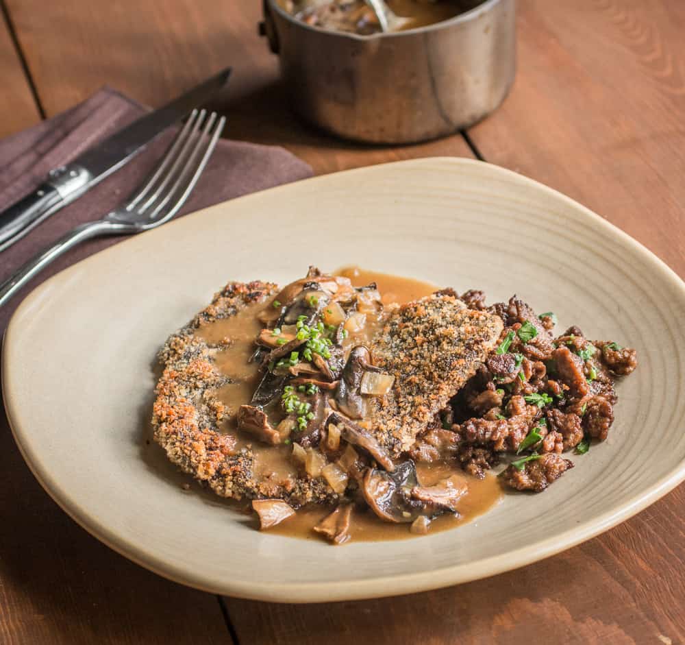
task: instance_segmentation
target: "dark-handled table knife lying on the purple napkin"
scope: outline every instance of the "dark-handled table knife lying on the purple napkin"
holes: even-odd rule
[[[0,212],[0,252],[121,168],[192,108],[205,103],[225,85],[230,73],[227,67],[87,149],[71,163],[51,170],[35,191]]]

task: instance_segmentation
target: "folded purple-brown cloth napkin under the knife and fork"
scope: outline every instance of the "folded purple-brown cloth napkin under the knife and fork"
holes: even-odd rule
[[[0,141],[0,210],[36,188],[50,169],[73,160],[86,148],[134,121],[145,109],[120,93],[104,88],[75,108]],[[230,136],[230,114],[227,116],[224,135]],[[1,279],[10,276],[25,260],[69,229],[102,217],[119,204],[155,166],[171,138],[170,129],[123,169],[0,252]],[[312,169],[305,162],[282,148],[221,139],[195,190],[176,217],[310,175]],[[42,280],[122,239],[125,238],[88,241],[56,260],[0,310],[0,331],[5,329],[17,304]]]

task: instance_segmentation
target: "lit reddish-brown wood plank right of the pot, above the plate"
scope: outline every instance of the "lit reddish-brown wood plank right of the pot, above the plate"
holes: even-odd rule
[[[514,90],[471,130],[475,145],[685,276],[685,3],[522,0],[519,9]]]

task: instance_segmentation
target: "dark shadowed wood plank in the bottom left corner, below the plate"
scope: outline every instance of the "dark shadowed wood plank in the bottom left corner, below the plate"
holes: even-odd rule
[[[0,414],[3,645],[231,642],[216,596],[138,567],[59,509],[29,472]]]

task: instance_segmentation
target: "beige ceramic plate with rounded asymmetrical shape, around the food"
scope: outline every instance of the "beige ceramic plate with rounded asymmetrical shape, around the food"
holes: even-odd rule
[[[228,280],[355,263],[490,302],[516,291],[560,326],[638,349],[608,441],[538,496],[506,496],[455,531],[334,548],[260,534],[185,492],[147,420],[160,344]],[[569,548],[685,478],[685,285],[582,206],[481,162],[426,159],[241,197],[125,241],[52,278],[5,337],[16,441],[79,524],[169,578],[234,596],[316,602],[417,592]]]

